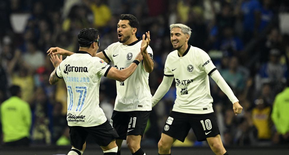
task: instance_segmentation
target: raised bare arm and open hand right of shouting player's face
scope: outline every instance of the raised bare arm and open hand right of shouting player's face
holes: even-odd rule
[[[144,40],[145,35],[142,35],[142,44],[141,44],[141,46],[144,46],[145,44],[150,43],[150,31],[146,32],[146,35],[147,35],[147,39],[146,40]],[[154,69],[154,62],[153,62],[152,58],[150,58],[149,53],[147,53],[147,50],[142,50],[142,55],[144,56],[143,57],[143,59],[144,59],[143,60],[144,70],[147,73],[151,73],[152,70]]]

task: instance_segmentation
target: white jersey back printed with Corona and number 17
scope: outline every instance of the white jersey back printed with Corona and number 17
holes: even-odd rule
[[[68,56],[57,67],[56,76],[67,88],[67,121],[69,126],[93,127],[107,119],[99,107],[99,84],[111,68],[104,60],[85,51]]]

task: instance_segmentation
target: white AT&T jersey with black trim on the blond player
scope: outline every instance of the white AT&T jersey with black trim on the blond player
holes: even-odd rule
[[[165,76],[175,78],[177,98],[173,111],[190,114],[214,112],[209,78],[215,65],[209,55],[200,48],[188,45],[182,57],[178,50],[171,52],[165,62]]]

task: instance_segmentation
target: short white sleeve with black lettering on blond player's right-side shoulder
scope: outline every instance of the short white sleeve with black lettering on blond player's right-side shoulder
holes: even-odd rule
[[[201,50],[199,60],[201,61],[199,66],[200,69],[205,71],[209,76],[216,70],[216,66],[205,51]]]

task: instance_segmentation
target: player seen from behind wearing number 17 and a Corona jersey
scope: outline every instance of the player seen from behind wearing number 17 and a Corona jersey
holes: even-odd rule
[[[119,137],[114,127],[106,119],[99,107],[99,84],[101,76],[124,81],[137,69],[142,60],[142,52],[123,70],[108,65],[98,57],[92,57],[99,47],[98,30],[84,28],[78,34],[79,51],[62,61],[62,56],[50,55],[55,70],[49,82],[55,84],[63,78],[68,90],[67,121],[70,129],[71,151],[68,155],[81,155],[86,147],[86,137],[90,133],[101,146],[104,155],[116,155]],[[141,50],[146,50],[149,40],[143,40]]]

